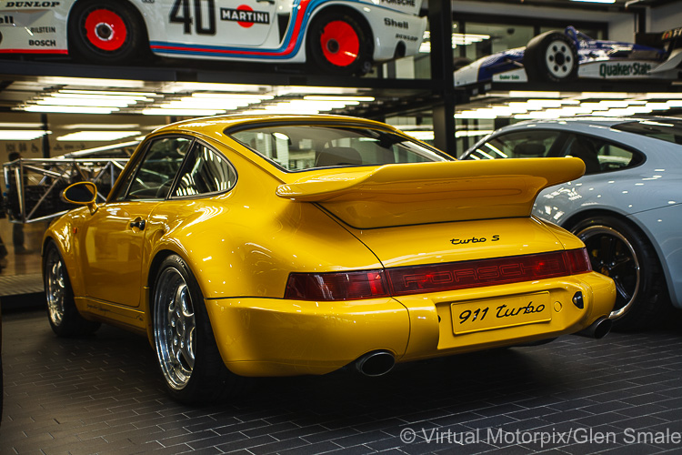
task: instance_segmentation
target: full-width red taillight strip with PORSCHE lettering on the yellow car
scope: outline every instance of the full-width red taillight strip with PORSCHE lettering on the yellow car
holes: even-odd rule
[[[285,298],[356,300],[478,288],[591,271],[587,249],[511,258],[331,273],[291,273]]]

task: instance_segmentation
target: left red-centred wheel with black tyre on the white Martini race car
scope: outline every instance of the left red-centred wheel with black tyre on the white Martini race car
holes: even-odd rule
[[[69,54],[85,63],[134,62],[149,49],[142,19],[123,2],[77,2],[68,23]]]

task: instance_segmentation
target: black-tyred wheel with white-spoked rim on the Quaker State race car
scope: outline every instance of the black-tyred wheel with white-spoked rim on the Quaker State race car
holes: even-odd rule
[[[558,31],[537,35],[528,41],[523,64],[529,81],[573,80],[578,66],[576,44]]]

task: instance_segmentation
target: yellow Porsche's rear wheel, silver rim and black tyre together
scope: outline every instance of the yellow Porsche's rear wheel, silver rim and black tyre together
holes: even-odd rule
[[[164,259],[153,296],[156,359],[171,396],[184,403],[222,398],[236,376],[220,357],[203,294],[182,258]]]

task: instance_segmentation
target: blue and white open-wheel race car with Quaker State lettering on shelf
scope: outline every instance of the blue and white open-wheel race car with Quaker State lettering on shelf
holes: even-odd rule
[[[455,86],[478,82],[564,82],[588,79],[678,79],[682,27],[640,34],[639,44],[592,39],[568,26],[456,68]]]

